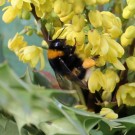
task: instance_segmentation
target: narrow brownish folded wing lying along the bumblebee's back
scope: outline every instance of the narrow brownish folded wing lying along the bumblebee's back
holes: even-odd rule
[[[76,84],[78,84],[83,89],[88,89],[87,85],[84,84],[77,76],[75,76],[71,72],[71,70],[66,66],[65,62],[61,58],[59,58],[59,62],[60,62],[60,66],[65,70],[65,72],[67,74],[66,75],[67,79],[69,78],[69,80],[75,82]]]

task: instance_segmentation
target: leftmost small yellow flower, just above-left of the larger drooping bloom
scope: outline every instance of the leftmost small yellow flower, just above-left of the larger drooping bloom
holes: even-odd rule
[[[27,42],[25,42],[24,37],[18,33],[14,36],[13,39],[8,41],[8,48],[14,51],[16,55],[18,55],[19,50],[25,46],[27,46]]]

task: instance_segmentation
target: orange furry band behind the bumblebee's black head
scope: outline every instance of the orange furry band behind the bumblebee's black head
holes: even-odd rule
[[[49,49],[47,55],[48,55],[48,59],[54,59],[54,58],[63,56],[64,52],[63,51]]]

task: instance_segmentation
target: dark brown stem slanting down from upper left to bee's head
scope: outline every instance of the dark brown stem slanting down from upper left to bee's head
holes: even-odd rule
[[[41,29],[41,31],[42,31],[44,40],[47,42],[48,45],[50,45],[50,43],[51,43],[51,37],[50,37],[49,34],[48,34],[48,31],[47,31],[47,29],[46,29],[46,27],[45,27],[45,23],[44,23],[44,21],[43,21],[41,18],[39,18],[39,17],[36,15],[35,7],[34,7],[33,4],[31,4],[31,7],[32,7],[32,11],[31,11],[31,12],[32,12],[34,18],[36,19],[37,23],[38,23],[39,26],[41,27],[40,29]]]

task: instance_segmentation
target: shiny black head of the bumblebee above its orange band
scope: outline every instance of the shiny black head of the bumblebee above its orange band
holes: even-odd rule
[[[65,46],[65,40],[64,39],[55,39],[51,42],[49,49],[52,50],[63,50]]]

